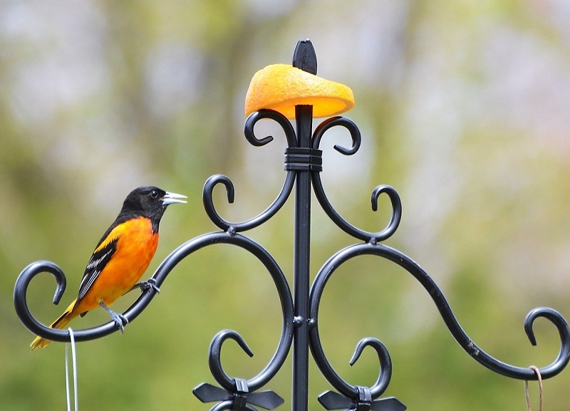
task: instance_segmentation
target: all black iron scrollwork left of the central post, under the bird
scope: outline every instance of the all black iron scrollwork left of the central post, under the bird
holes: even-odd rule
[[[258,120],[262,118],[270,118],[276,120],[285,132],[289,147],[294,147],[296,144],[295,133],[291,127],[289,120],[286,120],[279,113],[275,113],[269,110],[261,110],[260,112],[251,115],[245,125],[244,134],[247,140],[253,145],[265,145],[273,137],[264,137],[262,139],[257,139],[254,135],[254,125]],[[220,360],[220,353],[222,350],[222,345],[225,340],[231,339],[238,343],[238,345],[248,354],[253,355],[252,351],[243,340],[242,336],[235,331],[222,331],[214,336],[209,350],[209,365],[210,370],[212,370],[212,375],[214,379],[221,385],[220,387],[214,387],[209,384],[202,384],[195,388],[194,393],[202,400],[202,402],[212,402],[219,401],[212,410],[249,410],[256,411],[254,405],[263,407],[267,410],[272,410],[275,407],[281,405],[283,399],[279,397],[275,392],[272,391],[262,391],[257,392],[260,387],[266,385],[266,383],[271,380],[274,375],[279,371],[283,365],[286,357],[291,348],[291,341],[294,335],[294,311],[293,311],[293,301],[291,298],[291,291],[289,289],[289,284],[281,271],[281,268],[273,259],[271,254],[269,254],[264,247],[259,245],[256,241],[249,239],[247,236],[242,236],[238,234],[240,231],[247,231],[254,227],[259,226],[266,222],[267,219],[271,218],[279,211],[279,209],[286,202],[286,199],[291,194],[291,189],[295,182],[294,171],[289,171],[286,174],[286,179],[281,192],[276,197],[273,203],[267,207],[264,212],[249,219],[244,222],[228,222],[226,219],[220,216],[217,209],[214,207],[213,191],[214,187],[218,184],[224,185],[227,190],[227,199],[230,203],[234,200],[234,186],[232,181],[224,175],[214,175],[209,177],[209,179],[204,184],[204,189],[202,190],[202,201],[204,203],[204,209],[212,220],[212,222],[221,228],[222,232],[213,232],[208,234],[203,234],[202,236],[197,236],[194,239],[190,239],[181,246],[179,246],[175,251],[166,257],[164,261],[158,266],[155,274],[149,280],[152,282],[156,288],[150,287],[142,291],[138,299],[133,303],[130,308],[128,308],[123,316],[128,319],[129,323],[132,322],[137,316],[142,313],[142,311],[149,305],[152,298],[157,293],[157,288],[159,288],[165,281],[166,277],[172,269],[177,266],[177,264],[182,261],[182,259],[187,258],[190,254],[195,251],[204,248],[205,246],[210,246],[213,244],[232,244],[234,246],[239,246],[249,253],[253,254],[262,264],[264,264],[266,270],[271,275],[273,279],[277,292],[279,293],[279,300],[281,301],[281,311],[283,313],[283,326],[281,330],[281,338],[279,340],[278,347],[273,357],[269,361],[269,364],[261,370],[259,375],[250,379],[243,380],[242,378],[232,378],[227,375],[223,368]],[[28,285],[31,280],[38,274],[48,272],[54,276],[57,282],[56,294],[53,298],[53,303],[59,303],[63,292],[66,289],[66,276],[63,271],[56,265],[49,261],[37,261],[36,263],[30,264],[16,280],[16,285],[14,287],[14,306],[16,308],[16,313],[20,317],[24,326],[30,331],[37,335],[41,335],[43,338],[48,338],[49,340],[55,341],[69,341],[70,335],[66,330],[56,330],[43,325],[40,321],[36,320],[31,314],[28,308],[28,302],[26,300]],[[74,330],[73,335],[76,341],[86,341],[93,340],[95,338],[102,338],[105,335],[109,335],[117,331],[117,327],[113,321],[103,324],[102,326],[88,328],[84,330]]]

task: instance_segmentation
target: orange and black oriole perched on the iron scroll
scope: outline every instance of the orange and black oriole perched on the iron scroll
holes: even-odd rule
[[[128,319],[109,306],[135,288],[159,291],[152,279],[140,281],[155,255],[158,226],[170,204],[185,203],[182,194],[166,192],[154,186],[133,189],[125,198],[115,222],[105,231],[89,259],[77,298],[53,321],[51,328],[63,329],[77,316],[102,307],[124,331]],[[36,337],[31,349],[43,348],[51,341]]]

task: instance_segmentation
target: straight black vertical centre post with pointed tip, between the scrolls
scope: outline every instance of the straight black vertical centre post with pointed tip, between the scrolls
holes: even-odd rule
[[[299,41],[293,66],[316,74],[316,54],[310,41]],[[309,153],[313,106],[295,107],[297,145]],[[309,269],[311,249],[311,167],[298,170],[295,187],[294,304],[292,410],[306,411],[309,402]]]

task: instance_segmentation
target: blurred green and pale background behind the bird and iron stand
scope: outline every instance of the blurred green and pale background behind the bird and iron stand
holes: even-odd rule
[[[145,278],[176,246],[215,231],[202,207],[210,175],[232,179],[236,201],[216,204],[227,219],[264,209],[284,180],[285,139],[270,121],[271,144],[243,136],[244,96],[253,74],[290,63],[311,38],[318,74],[349,85],[346,116],[363,135],[343,157],[343,130],[323,140],[323,182],[349,222],[378,231],[372,189],[391,184],[403,221],[386,241],[440,285],[463,328],[490,355],[544,366],[559,340],[524,316],[550,306],[570,318],[570,5],[566,1],[18,1],[0,2],[0,402],[2,410],[61,410],[64,344],[30,352],[33,335],[14,312],[19,272],[56,262],[68,277],[53,306],[48,274],[29,292],[49,323],[75,297],[93,246],[125,195],[141,184],[187,194],[167,212]],[[314,125],[317,125],[315,121]],[[291,279],[292,199],[248,232]],[[352,244],[314,202],[312,271]],[[125,296],[125,309],[136,296]],[[191,393],[214,383],[207,348],[223,328],[232,342],[222,363],[251,378],[279,340],[281,314],[269,275],[236,247],[192,254],[172,271],[124,335],[78,345],[80,407],[88,410],[209,410]],[[98,310],[101,311],[101,310]],[[393,378],[385,395],[409,410],[523,410],[524,385],[465,353],[427,292],[409,274],[371,256],[353,259],[328,284],[321,338],[338,373],[371,385],[378,364],[364,336],[388,346]],[[90,313],[76,328],[108,321]],[[370,351],[370,352],[369,352]],[[330,387],[311,364],[310,410]],[[570,371],[544,383],[545,407],[568,409]],[[266,389],[291,407],[290,358]],[[533,406],[538,387],[531,384]]]

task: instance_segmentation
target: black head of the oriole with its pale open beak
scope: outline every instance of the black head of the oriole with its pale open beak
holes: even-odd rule
[[[153,186],[144,186],[133,189],[123,202],[118,219],[133,217],[147,217],[152,221],[152,227],[158,231],[158,224],[169,204],[185,203],[181,194],[165,192]]]

